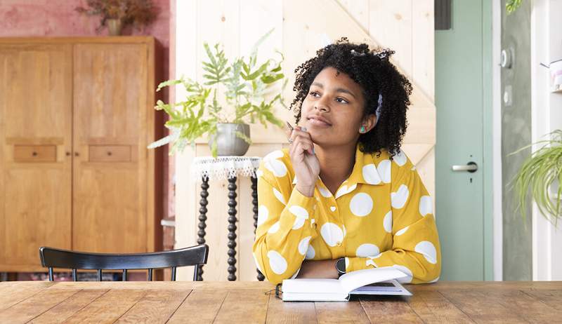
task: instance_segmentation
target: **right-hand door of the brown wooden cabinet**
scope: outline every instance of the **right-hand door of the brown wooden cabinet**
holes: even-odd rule
[[[74,250],[147,250],[147,80],[145,44],[74,46]]]

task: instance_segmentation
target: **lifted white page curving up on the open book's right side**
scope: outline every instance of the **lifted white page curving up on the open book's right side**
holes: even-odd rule
[[[402,271],[392,268],[391,266],[386,266],[382,268],[351,271],[339,277],[338,281],[341,283],[344,292],[350,293],[352,290],[370,283],[379,283],[381,281],[403,278],[405,276],[407,275]]]

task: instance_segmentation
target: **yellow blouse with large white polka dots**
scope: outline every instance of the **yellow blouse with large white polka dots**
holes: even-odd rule
[[[403,283],[438,280],[441,253],[433,204],[415,166],[400,152],[389,159],[355,152],[353,172],[335,196],[320,177],[313,197],[299,181],[287,149],[257,170],[258,228],[254,258],[268,281],[294,278],[304,259],[346,257],[346,271],[393,266]],[[336,271],[334,269],[334,271]]]

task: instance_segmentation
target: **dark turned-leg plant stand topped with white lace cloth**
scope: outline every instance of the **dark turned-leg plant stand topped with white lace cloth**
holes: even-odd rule
[[[258,226],[258,179],[256,170],[259,168],[261,157],[259,156],[199,156],[193,159],[191,165],[192,179],[202,179],[199,230],[197,231],[197,243],[205,243],[205,228],[207,225],[207,204],[209,201],[209,180],[228,180],[228,281],[236,280],[236,180],[238,176],[251,177],[251,196],[254,212],[254,234]],[[265,278],[259,270],[258,280]],[[197,280],[203,280],[203,266],[199,267]]]

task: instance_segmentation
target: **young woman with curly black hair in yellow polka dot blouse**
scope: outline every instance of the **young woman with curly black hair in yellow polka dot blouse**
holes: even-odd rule
[[[412,86],[393,53],[342,38],[295,70],[300,126],[257,171],[253,250],[268,281],[383,266],[403,283],[438,280],[431,198],[400,151]]]

